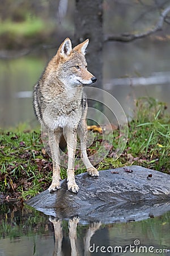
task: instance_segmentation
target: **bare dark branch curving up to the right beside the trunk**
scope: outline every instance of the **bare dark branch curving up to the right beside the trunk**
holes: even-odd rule
[[[135,39],[145,38],[146,36],[154,34],[156,31],[162,30],[163,24],[165,22],[165,18],[167,16],[167,14],[169,13],[169,11],[170,11],[170,6],[168,6],[167,8],[165,8],[162,11],[158,22],[156,23],[155,27],[153,27],[151,30],[148,30],[141,34],[125,33],[122,35],[105,35],[104,42],[107,42],[107,41],[131,42]],[[167,20],[166,20],[166,22],[167,22]]]

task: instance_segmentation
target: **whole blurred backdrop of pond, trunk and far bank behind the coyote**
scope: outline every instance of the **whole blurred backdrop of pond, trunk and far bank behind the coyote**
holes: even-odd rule
[[[1,127],[36,125],[33,85],[66,37],[74,45],[90,38],[95,86],[129,117],[141,96],[170,108],[169,0],[1,0],[0,10]]]

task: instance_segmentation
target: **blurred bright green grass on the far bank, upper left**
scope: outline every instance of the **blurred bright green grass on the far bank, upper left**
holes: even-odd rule
[[[48,30],[46,29],[48,27]],[[51,20],[38,16],[27,15],[23,20],[16,22],[5,19],[0,21],[0,47],[3,49],[35,48],[37,45],[51,42],[56,24]]]

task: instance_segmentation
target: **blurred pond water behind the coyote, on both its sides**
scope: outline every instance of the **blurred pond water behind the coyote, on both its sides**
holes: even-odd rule
[[[31,127],[37,125],[31,92],[56,49],[46,51],[39,56],[0,61],[1,127],[18,126],[22,122]],[[169,52],[167,42],[105,44],[103,89],[120,102],[128,115],[133,113],[135,100],[142,96],[166,102],[170,112]]]

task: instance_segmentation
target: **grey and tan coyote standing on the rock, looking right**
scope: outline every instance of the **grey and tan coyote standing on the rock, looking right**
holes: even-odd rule
[[[48,141],[53,160],[53,179],[49,192],[60,188],[59,142],[65,138],[68,151],[67,188],[77,193],[74,159],[77,134],[80,139],[81,158],[89,175],[99,176],[86,152],[87,99],[83,85],[96,81],[87,70],[85,51],[89,39],[72,48],[66,38],[57,54],[49,61],[33,90],[33,108],[39,122],[48,129]]]

